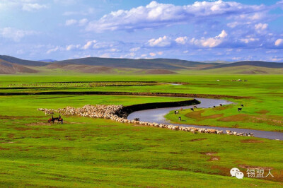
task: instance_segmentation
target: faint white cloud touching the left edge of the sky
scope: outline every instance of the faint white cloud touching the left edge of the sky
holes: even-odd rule
[[[23,37],[28,35],[36,35],[37,32],[33,30],[18,30],[16,28],[3,28],[0,29],[0,36],[19,42]]]

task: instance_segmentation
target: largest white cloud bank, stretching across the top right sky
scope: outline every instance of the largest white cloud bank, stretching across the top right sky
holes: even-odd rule
[[[151,1],[146,6],[139,6],[130,10],[112,11],[99,20],[88,24],[86,30],[103,32],[105,30],[139,30],[145,28],[160,28],[192,20],[209,20],[220,16],[239,16],[252,14],[256,19],[258,12],[266,10],[264,5],[247,5],[234,1],[196,1],[194,4],[175,6],[173,4],[159,4]]]

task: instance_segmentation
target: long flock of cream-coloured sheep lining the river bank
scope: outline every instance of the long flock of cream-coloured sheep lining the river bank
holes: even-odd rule
[[[141,124],[145,126],[151,127],[160,127],[171,129],[175,131],[190,131],[192,133],[207,133],[207,134],[224,134],[221,130],[216,129],[206,129],[206,128],[196,128],[196,127],[182,127],[176,126],[172,124],[158,124],[158,123],[149,123],[149,122],[141,122],[137,119],[129,120],[127,119],[127,115],[123,112],[122,105],[85,105],[83,107],[65,107],[58,110],[52,109],[45,109],[45,108],[38,108],[37,110],[45,112],[45,114],[54,114],[57,112],[63,115],[78,115],[81,117],[93,117],[93,118],[104,118],[104,119],[112,119],[116,122],[121,123],[130,123],[130,124]],[[246,134],[246,133],[237,133],[235,131],[226,130],[226,133],[229,135],[237,135],[237,136],[253,136],[253,134]]]

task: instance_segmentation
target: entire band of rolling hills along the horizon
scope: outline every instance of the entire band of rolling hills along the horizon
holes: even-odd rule
[[[46,62],[47,61],[47,62]],[[119,59],[87,57],[30,61],[0,55],[0,74],[36,73],[54,69],[85,74],[283,74],[283,63],[266,61],[198,62],[180,59]]]

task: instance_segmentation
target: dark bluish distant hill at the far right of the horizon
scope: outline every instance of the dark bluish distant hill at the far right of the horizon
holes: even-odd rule
[[[232,66],[260,66],[266,68],[283,68],[283,63],[266,62],[266,61],[238,61],[231,64],[219,64],[204,69],[218,69],[218,68],[232,67]]]

